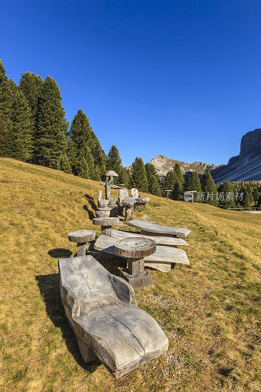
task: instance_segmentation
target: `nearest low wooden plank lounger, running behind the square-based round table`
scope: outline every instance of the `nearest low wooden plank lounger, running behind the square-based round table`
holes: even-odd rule
[[[113,247],[117,241],[119,241],[119,238],[100,235],[95,242],[94,248],[115,255]],[[144,266],[162,272],[169,272],[171,263],[190,265],[185,250],[157,245],[156,252],[145,257]]]

